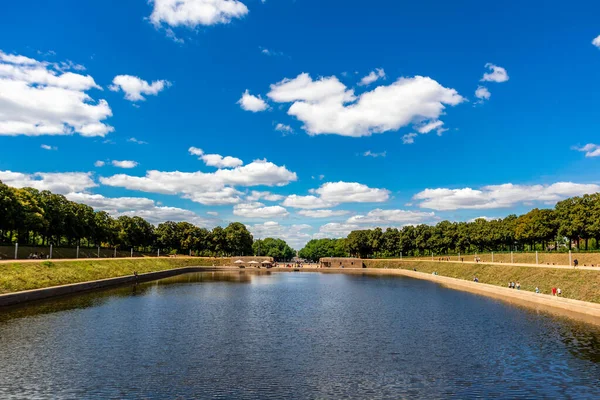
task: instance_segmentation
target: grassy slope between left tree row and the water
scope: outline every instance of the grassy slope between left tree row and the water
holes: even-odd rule
[[[0,294],[192,266],[229,265],[228,258],[123,258],[0,264]]]

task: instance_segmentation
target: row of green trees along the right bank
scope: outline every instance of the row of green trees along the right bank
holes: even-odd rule
[[[567,251],[600,249],[600,193],[572,197],[553,209],[535,208],[521,216],[473,222],[442,221],[351,232],[345,239],[315,239],[301,258],[400,257],[490,251]]]

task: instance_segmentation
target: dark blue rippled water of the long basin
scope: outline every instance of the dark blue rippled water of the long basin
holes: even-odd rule
[[[600,328],[403,277],[199,273],[0,312],[1,399],[600,398]]]

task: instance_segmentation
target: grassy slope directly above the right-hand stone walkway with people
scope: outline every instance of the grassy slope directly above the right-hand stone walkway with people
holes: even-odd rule
[[[508,282],[519,282],[521,290],[550,294],[553,287],[560,288],[563,297],[600,303],[600,270],[522,267],[511,265],[466,264],[458,262],[365,260],[369,268],[400,268],[440,276],[507,287]]]

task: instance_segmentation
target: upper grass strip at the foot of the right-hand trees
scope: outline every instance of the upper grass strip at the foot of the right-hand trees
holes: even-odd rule
[[[434,259],[444,256],[434,256]],[[461,258],[465,261],[473,261],[474,254],[465,254]],[[477,254],[477,257],[482,262],[492,262],[491,253]],[[600,265],[600,253],[572,253],[572,259],[577,259],[580,266]],[[429,257],[417,257],[414,260],[431,260]],[[512,260],[515,264],[535,264],[535,252],[533,253],[514,253]],[[540,264],[544,265],[569,265],[569,253],[538,253],[538,260]],[[450,261],[460,261],[458,256],[450,256]],[[510,253],[494,253],[494,262],[508,264],[511,262]]]

